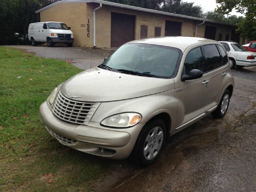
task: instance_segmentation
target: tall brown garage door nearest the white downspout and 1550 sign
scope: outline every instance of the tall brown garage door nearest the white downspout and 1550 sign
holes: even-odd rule
[[[111,47],[134,40],[135,16],[111,13]]]

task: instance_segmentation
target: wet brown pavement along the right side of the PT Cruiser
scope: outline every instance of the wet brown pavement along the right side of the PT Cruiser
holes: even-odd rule
[[[209,115],[172,136],[152,166],[113,162],[112,172],[94,190],[256,191],[256,67],[232,73],[235,89],[224,118]]]

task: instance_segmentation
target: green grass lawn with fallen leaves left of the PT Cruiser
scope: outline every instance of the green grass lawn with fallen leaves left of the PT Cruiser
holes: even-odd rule
[[[109,170],[110,160],[70,151],[40,120],[40,104],[79,72],[61,60],[0,48],[0,191],[85,191]]]

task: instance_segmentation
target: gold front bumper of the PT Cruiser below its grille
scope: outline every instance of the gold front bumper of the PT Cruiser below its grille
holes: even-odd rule
[[[138,124],[131,128],[113,129],[95,122],[88,126],[71,124],[54,116],[46,102],[40,106],[40,116],[48,132],[61,144],[112,159],[125,159],[130,155],[144,126]]]

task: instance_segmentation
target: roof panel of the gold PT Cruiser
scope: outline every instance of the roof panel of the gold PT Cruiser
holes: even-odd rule
[[[141,43],[141,44],[153,44],[167,47],[179,48],[184,51],[188,46],[200,43],[216,43],[217,41],[198,37],[182,37],[182,36],[166,36],[146,38],[140,40],[130,41],[128,43]]]

